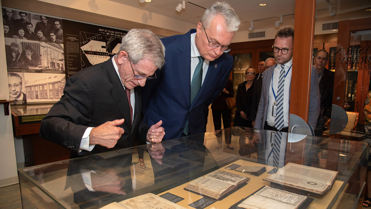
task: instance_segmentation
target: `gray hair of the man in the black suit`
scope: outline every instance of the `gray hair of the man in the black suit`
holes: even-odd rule
[[[150,60],[161,68],[165,63],[165,47],[160,38],[147,29],[131,29],[122,37],[119,51],[125,51],[129,60],[137,64],[141,60]]]

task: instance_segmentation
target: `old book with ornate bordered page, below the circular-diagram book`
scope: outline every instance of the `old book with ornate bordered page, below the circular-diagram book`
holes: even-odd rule
[[[307,197],[303,195],[264,186],[243,200],[237,207],[246,209],[297,209],[306,199]]]

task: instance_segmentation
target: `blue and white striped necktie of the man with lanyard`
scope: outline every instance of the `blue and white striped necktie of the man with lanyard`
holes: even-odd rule
[[[283,87],[285,85],[285,65],[281,65],[281,72],[279,74],[278,80],[278,88],[277,88],[277,98],[276,98],[276,105],[277,105],[277,112],[275,118],[275,127],[278,130],[281,130],[284,125],[283,121]]]

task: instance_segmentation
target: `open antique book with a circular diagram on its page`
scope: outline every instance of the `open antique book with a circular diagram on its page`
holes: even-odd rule
[[[337,175],[337,171],[288,163],[263,180],[323,194],[331,188]]]

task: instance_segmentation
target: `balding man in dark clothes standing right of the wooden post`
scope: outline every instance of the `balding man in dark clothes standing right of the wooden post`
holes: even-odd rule
[[[335,73],[326,68],[328,52],[321,49],[314,58],[314,65],[318,71],[319,93],[321,95],[321,112],[317,121],[315,135],[322,136],[324,125],[331,118],[332,92],[334,91]]]

